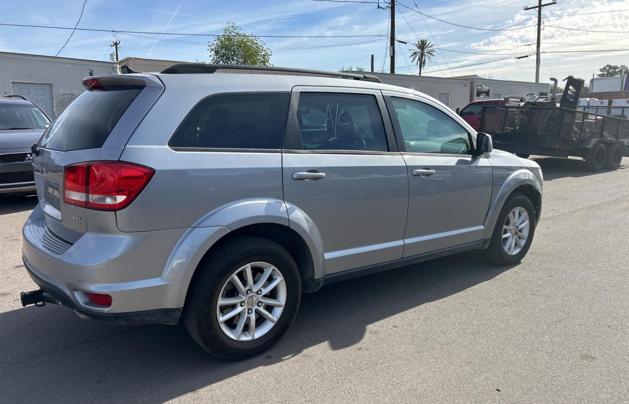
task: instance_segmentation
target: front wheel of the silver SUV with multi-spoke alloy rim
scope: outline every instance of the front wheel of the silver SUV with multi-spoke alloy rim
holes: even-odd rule
[[[489,247],[481,250],[487,261],[507,266],[520,262],[535,235],[535,208],[525,195],[513,193],[504,203]]]

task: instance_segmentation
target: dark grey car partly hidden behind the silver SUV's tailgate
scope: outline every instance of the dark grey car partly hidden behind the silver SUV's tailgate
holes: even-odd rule
[[[0,194],[35,191],[31,146],[48,126],[50,119],[35,103],[0,98]]]

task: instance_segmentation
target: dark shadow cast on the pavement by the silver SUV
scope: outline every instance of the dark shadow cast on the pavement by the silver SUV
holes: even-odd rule
[[[0,401],[167,401],[308,354],[318,344],[351,347],[373,323],[508,269],[472,251],[326,286],[303,295],[294,324],[278,344],[240,362],[214,359],[181,323],[123,327],[82,322],[61,306],[19,308],[0,313]]]

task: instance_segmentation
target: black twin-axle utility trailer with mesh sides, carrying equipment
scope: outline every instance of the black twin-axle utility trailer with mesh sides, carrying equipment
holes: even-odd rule
[[[494,147],[521,157],[583,157],[590,171],[629,157],[629,120],[557,106],[484,107],[481,130]]]

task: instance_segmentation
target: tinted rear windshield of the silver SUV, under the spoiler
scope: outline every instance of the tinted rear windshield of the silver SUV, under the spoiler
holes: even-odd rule
[[[102,147],[140,91],[142,87],[108,87],[107,91],[84,92],[43,134],[40,146],[62,152]]]

